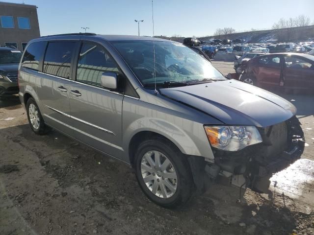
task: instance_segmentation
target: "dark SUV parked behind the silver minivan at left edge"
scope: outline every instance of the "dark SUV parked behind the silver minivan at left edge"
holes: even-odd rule
[[[0,47],[0,96],[18,94],[18,70],[22,52]]]

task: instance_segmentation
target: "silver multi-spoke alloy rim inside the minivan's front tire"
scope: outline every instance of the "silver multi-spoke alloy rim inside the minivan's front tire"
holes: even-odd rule
[[[170,160],[158,151],[149,151],[142,157],[141,173],[145,185],[160,198],[172,197],[177,191],[178,178]]]

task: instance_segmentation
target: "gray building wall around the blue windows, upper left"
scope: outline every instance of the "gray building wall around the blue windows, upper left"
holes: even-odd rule
[[[14,22],[14,28],[3,28],[0,22],[1,47],[5,43],[17,43],[18,49],[22,51],[22,43],[40,37],[36,6],[0,1],[0,16],[12,16]],[[18,17],[28,17],[30,29],[19,28]]]

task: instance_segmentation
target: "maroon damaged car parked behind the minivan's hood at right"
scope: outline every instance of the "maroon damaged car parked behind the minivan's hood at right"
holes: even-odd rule
[[[255,57],[244,65],[239,80],[263,89],[314,92],[314,56],[275,53]]]

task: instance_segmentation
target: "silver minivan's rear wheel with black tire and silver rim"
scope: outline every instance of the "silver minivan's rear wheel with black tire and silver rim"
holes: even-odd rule
[[[37,111],[37,117],[36,117],[36,111]],[[36,104],[33,98],[29,98],[27,100],[26,113],[27,113],[27,118],[28,118],[30,128],[37,135],[44,135],[50,130],[50,128],[45,124],[44,119],[39,111],[38,105]]]

